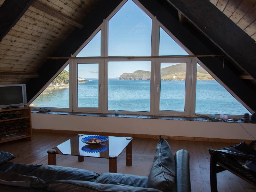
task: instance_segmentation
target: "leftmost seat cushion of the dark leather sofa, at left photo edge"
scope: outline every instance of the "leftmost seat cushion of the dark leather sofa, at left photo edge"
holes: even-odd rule
[[[28,175],[31,171],[42,166],[42,164],[23,164],[23,163],[13,163],[5,162],[0,164],[0,171],[2,172],[15,172],[21,175]]]

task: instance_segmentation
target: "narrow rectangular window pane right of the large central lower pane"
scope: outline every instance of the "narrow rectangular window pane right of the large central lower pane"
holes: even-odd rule
[[[186,63],[161,63],[160,110],[185,111]]]

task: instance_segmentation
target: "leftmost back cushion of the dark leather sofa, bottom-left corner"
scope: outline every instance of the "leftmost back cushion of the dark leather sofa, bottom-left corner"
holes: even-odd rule
[[[36,186],[43,183],[44,181],[37,177],[20,175],[14,172],[0,172],[0,184],[23,188],[36,188]]]

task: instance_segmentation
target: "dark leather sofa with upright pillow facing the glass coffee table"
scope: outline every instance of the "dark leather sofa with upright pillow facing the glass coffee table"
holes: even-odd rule
[[[54,165],[21,164],[0,152],[0,191],[172,191],[190,192],[189,154],[179,150],[173,156],[161,138],[148,177],[121,173],[98,173]]]

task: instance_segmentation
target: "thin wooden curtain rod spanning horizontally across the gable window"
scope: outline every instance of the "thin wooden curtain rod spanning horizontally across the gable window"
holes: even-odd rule
[[[46,59],[147,59],[147,58],[184,58],[184,57],[223,57],[224,55],[173,55],[173,56],[132,56],[132,57],[46,57]]]

